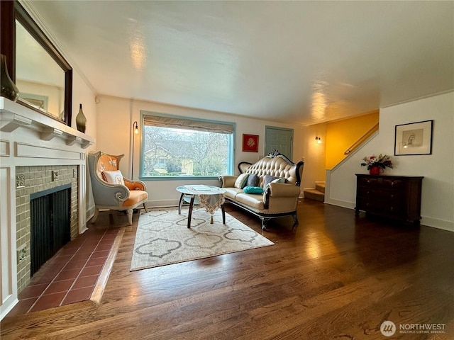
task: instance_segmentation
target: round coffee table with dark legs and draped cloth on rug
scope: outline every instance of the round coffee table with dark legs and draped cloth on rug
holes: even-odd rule
[[[219,188],[218,186],[204,186],[204,185],[185,185],[185,186],[178,186],[177,191],[179,191],[181,196],[179,196],[179,203],[178,203],[178,213],[182,213],[182,205],[183,202],[189,203],[189,213],[187,217],[187,227],[191,227],[191,217],[192,217],[192,208],[194,208],[194,204],[200,204],[202,206],[205,205],[206,200],[201,199],[204,196],[212,196],[218,195],[218,199],[223,201],[223,193],[226,191],[223,188]],[[214,209],[216,210],[216,208]],[[222,211],[222,222],[226,224],[226,210],[224,210],[224,205],[221,203],[221,211]],[[211,212],[211,224],[213,224],[213,213]]]

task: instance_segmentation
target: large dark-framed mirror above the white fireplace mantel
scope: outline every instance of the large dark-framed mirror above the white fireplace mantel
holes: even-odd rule
[[[71,125],[72,67],[18,1],[1,1],[1,54],[18,103]]]

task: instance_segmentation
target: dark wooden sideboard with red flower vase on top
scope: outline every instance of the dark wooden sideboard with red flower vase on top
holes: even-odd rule
[[[356,174],[356,208],[367,215],[419,224],[423,177]]]

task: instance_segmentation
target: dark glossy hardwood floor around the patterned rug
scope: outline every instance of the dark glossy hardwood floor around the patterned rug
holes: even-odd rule
[[[291,217],[262,232],[255,217],[226,212],[275,245],[130,272],[135,214],[99,305],[7,316],[1,339],[454,339],[453,232],[310,200],[294,231]],[[394,336],[380,332],[385,320]],[[421,331],[433,324],[438,333]]]

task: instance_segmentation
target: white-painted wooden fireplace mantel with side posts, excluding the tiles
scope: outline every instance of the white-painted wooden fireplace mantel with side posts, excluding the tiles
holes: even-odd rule
[[[16,167],[77,166],[77,215],[82,233],[87,230],[84,149],[94,143],[94,138],[48,115],[0,97],[0,319],[18,302]]]

